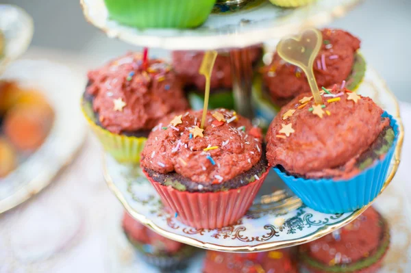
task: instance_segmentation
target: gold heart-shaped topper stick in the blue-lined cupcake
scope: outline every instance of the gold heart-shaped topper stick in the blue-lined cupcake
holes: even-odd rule
[[[323,36],[318,29],[307,29],[299,36],[284,38],[277,44],[279,57],[290,64],[294,64],[306,73],[315,103],[323,104],[323,99],[316,84],[312,64],[319,54]]]

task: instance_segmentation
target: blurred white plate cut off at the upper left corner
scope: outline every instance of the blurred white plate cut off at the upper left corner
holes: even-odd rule
[[[0,74],[6,64],[26,51],[33,31],[33,19],[27,12],[16,5],[0,5],[0,35],[4,43],[3,52],[0,51]]]

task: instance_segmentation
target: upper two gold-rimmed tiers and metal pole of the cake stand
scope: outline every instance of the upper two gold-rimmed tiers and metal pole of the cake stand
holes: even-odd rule
[[[171,50],[231,49],[236,111],[253,118],[251,77],[244,47],[294,34],[304,27],[321,27],[343,16],[358,0],[318,0],[296,9],[277,8],[266,0],[240,5],[216,5],[208,21],[197,29],[133,29],[110,21],[103,0],[81,0],[84,15],[108,36],[144,47]],[[367,68],[358,92],[370,96],[400,125],[399,142],[382,191],[399,165],[403,128],[395,96],[373,68]],[[246,216],[223,229],[194,229],[164,211],[158,194],[138,166],[118,164],[104,157],[105,179],[136,220],[164,237],[185,244],[229,252],[266,251],[310,242],[354,220],[366,207],[343,214],[325,214],[301,203],[272,172]]]

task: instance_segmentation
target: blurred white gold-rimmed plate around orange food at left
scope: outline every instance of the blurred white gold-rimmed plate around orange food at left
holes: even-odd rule
[[[45,142],[7,177],[0,179],[0,213],[12,209],[47,187],[81,148],[86,125],[73,90],[83,90],[82,77],[69,68],[46,60],[18,60],[1,80],[45,94],[54,111],[54,123]],[[73,109],[76,109],[75,111]]]

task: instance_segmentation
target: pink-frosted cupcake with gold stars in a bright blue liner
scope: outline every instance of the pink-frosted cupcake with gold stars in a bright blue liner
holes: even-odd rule
[[[266,135],[267,159],[308,207],[324,213],[369,204],[384,185],[399,134],[370,98],[337,86],[284,106]]]

